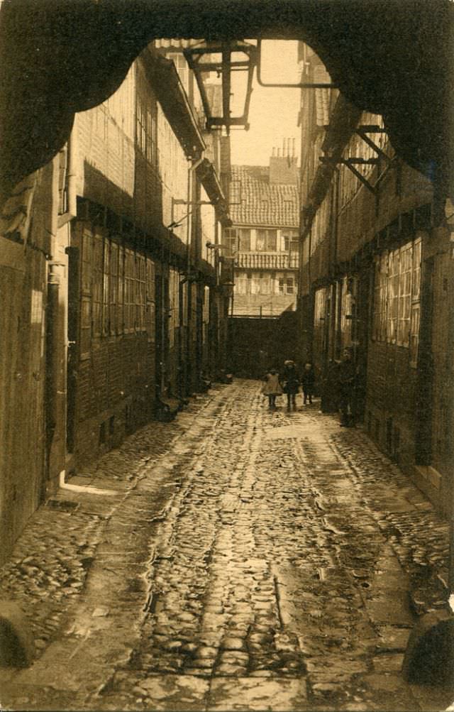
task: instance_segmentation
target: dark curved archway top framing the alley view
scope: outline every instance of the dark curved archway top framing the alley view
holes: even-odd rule
[[[396,152],[453,194],[454,7],[449,0],[4,0],[0,190],[48,162],[74,113],[122,82],[153,38],[298,38]]]

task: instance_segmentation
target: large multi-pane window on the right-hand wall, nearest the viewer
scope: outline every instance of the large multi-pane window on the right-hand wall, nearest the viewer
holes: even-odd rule
[[[421,238],[375,263],[372,338],[410,349],[416,365],[421,291]]]

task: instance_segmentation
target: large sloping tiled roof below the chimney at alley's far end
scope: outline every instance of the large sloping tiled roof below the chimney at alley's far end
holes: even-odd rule
[[[299,224],[297,186],[270,185],[268,167],[232,166],[230,201],[233,224],[295,228]]]

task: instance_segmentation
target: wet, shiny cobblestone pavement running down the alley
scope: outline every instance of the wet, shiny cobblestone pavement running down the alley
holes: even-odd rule
[[[452,702],[400,674],[416,614],[445,605],[448,525],[360,429],[259,391],[199,397],[70,481],[104,494],[36,513],[0,577],[37,643],[0,672],[4,708]]]

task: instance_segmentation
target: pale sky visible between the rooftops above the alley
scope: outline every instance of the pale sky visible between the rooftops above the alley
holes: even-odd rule
[[[270,83],[293,82],[290,67],[295,66],[295,45],[267,42],[263,53],[262,78]],[[267,61],[273,56],[273,73]],[[273,147],[281,149],[284,138],[295,138],[295,154],[300,156],[300,127],[297,126],[300,110],[299,89],[264,88],[254,76],[250,100],[250,129],[231,130],[231,161],[234,165],[266,166]]]

